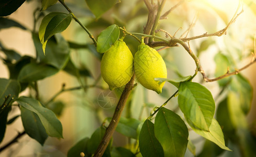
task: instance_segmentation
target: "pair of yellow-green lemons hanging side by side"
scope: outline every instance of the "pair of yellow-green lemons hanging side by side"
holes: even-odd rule
[[[138,47],[133,60],[126,43],[119,39],[104,53],[101,62],[102,77],[110,90],[127,84],[133,74],[133,68],[139,83],[158,94],[162,92],[164,82],[154,78],[167,77],[166,65],[157,52],[144,43]]]

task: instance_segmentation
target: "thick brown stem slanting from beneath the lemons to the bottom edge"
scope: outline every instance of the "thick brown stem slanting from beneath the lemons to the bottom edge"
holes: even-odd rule
[[[102,138],[101,143],[98,145],[98,148],[94,153],[95,157],[101,157],[104,154],[104,152],[107,148],[107,145],[108,145],[110,139],[112,138],[113,133],[114,133],[114,131],[117,127],[117,124],[120,120],[122,111],[125,107],[126,101],[127,101],[128,96],[131,92],[131,89],[133,87],[134,79],[135,79],[135,75],[133,74],[133,76],[131,77],[130,82],[128,82],[125,86],[125,89],[124,89],[124,91],[123,91],[123,93],[122,93],[122,95],[119,99],[119,102],[118,102],[117,106],[116,106],[115,113],[114,113],[114,115],[113,115],[113,117],[110,121],[110,124],[108,125],[108,127],[106,129],[106,132],[105,132],[105,134]]]

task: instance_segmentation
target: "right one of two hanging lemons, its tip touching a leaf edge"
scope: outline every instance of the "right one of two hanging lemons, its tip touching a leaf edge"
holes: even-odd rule
[[[157,50],[141,43],[135,53],[133,66],[137,80],[142,86],[158,94],[162,93],[165,82],[160,83],[155,81],[154,78],[166,78],[167,70],[163,58]]]

